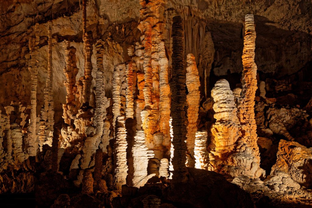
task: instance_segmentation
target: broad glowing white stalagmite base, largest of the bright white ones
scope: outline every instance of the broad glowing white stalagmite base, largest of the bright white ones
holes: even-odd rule
[[[133,184],[136,187],[144,184],[155,174],[147,174],[149,158],[154,157],[154,152],[148,150],[145,145],[145,135],[143,130],[137,130],[134,136],[134,146],[132,148],[134,177]]]

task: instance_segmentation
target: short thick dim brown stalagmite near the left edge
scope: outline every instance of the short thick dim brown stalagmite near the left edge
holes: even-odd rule
[[[11,124],[11,139],[13,145],[13,157],[16,161],[23,162],[25,155],[22,149],[23,138],[20,125],[16,123]]]

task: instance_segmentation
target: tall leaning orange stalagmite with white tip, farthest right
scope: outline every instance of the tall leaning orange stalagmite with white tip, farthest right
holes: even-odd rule
[[[245,16],[245,37],[243,48],[243,79],[241,97],[238,105],[238,118],[242,124],[242,130],[246,131],[243,141],[253,149],[256,162],[260,164],[259,147],[257,145],[257,126],[255,120],[255,95],[257,89],[257,65],[255,63],[256,30],[254,16]]]

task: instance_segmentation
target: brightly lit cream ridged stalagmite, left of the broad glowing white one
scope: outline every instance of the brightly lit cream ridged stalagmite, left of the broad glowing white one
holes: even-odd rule
[[[121,191],[121,186],[126,184],[127,177],[127,140],[124,117],[118,116],[116,120],[115,144],[114,144],[114,188]]]

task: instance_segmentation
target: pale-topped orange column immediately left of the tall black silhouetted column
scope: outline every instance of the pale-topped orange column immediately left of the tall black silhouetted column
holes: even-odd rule
[[[168,59],[166,57],[165,45],[161,41],[158,44],[158,55],[159,55],[159,87],[160,87],[160,100],[159,100],[159,127],[160,132],[164,135],[165,143],[170,144],[170,86],[168,77]]]

